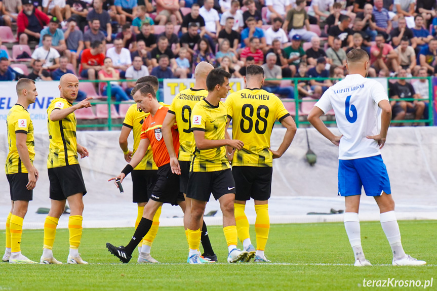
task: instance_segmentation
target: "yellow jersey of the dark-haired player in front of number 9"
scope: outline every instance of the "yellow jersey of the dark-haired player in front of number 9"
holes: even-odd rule
[[[191,113],[191,130],[204,131],[207,140],[225,139],[227,109],[223,102],[211,105],[206,99],[198,102]],[[226,147],[199,150],[194,145],[191,172],[215,172],[230,169]]]

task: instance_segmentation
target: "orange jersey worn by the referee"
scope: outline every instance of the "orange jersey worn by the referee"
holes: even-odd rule
[[[167,151],[163,133],[161,131],[167,111],[169,111],[169,108],[161,105],[154,116],[152,116],[152,114],[147,116],[147,118],[144,120],[143,127],[141,128],[141,139],[148,139],[150,141],[150,146],[152,147],[153,152],[153,160],[158,168],[170,162],[170,155]],[[175,148],[175,152],[178,152],[179,132],[176,123],[172,127],[172,136],[173,147]]]

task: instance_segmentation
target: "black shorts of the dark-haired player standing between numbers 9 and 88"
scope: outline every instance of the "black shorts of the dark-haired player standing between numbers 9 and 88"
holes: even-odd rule
[[[211,193],[216,200],[225,194],[235,194],[235,182],[230,169],[216,172],[190,172],[187,197],[209,201]]]

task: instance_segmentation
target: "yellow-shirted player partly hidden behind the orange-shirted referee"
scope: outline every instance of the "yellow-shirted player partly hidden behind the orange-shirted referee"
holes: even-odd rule
[[[144,76],[137,80],[138,84],[149,84],[153,87],[153,89],[158,91],[159,82],[155,76]],[[140,87],[134,87],[131,95],[133,96],[137,89]],[[164,105],[164,103],[160,103]],[[130,162],[132,159],[132,155],[138,149],[138,145],[140,144],[140,136],[141,136],[141,127],[144,123],[144,119],[150,113],[145,113],[143,110],[137,107],[137,104],[132,104],[129,107],[128,112],[126,112],[125,120],[123,121],[122,131],[120,133],[120,138],[118,139],[118,143],[123,150],[125,155],[125,160]],[[130,151],[128,148],[128,137],[129,134],[133,131],[134,135],[134,150]],[[138,204],[138,214],[137,219],[135,221],[135,228],[138,227],[138,224],[141,221],[141,217],[143,216],[144,206],[150,198],[153,187],[156,183],[156,174],[158,168],[156,167],[155,162],[153,161],[153,153],[152,149],[149,146],[146,154],[140,163],[135,167],[132,171],[132,197],[133,202]],[[142,242],[138,244],[138,263],[158,263],[155,259],[150,256],[150,248],[152,246],[153,240],[156,237],[156,233],[158,231],[158,227],[160,225],[160,216],[161,216],[161,207],[155,213],[153,217],[153,224],[150,227],[149,232],[144,236]]]

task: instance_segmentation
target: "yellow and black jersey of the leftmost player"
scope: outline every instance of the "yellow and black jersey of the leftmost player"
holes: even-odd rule
[[[30,120],[30,114],[20,104],[15,104],[9,110],[6,118],[6,127],[8,130],[9,153],[6,158],[6,174],[28,173],[24,163],[21,161],[17,150],[17,133],[27,134],[26,145],[29,151],[30,161],[35,158],[35,142],[33,140],[33,123]]]

